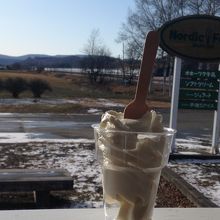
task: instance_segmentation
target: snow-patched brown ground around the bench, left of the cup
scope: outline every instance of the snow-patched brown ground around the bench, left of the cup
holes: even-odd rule
[[[0,168],[67,169],[74,179],[74,190],[64,192],[66,207],[102,207],[100,166],[91,143],[29,142],[0,144]],[[3,156],[4,155],[4,156]]]

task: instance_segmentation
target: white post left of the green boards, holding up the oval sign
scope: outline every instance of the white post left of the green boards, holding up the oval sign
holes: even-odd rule
[[[181,74],[182,60],[175,57],[174,69],[173,69],[173,89],[171,99],[171,111],[170,111],[170,128],[177,128],[177,113],[178,113],[178,102],[179,102],[179,87],[180,87],[180,74]],[[172,143],[172,152],[175,152],[175,136]]]

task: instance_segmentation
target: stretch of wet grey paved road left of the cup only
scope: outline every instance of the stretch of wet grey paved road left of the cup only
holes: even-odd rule
[[[0,133],[28,133],[46,139],[93,138],[91,125],[99,120],[100,115],[0,114]]]

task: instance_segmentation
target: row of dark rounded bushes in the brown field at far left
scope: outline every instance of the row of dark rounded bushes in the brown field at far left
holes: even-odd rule
[[[0,80],[0,91],[6,90],[11,93],[13,98],[19,98],[19,95],[30,90],[34,98],[41,98],[45,91],[52,91],[50,84],[42,79],[26,80],[21,77],[6,78]]]

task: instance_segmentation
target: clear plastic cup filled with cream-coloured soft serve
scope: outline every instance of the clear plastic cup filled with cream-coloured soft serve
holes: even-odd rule
[[[98,124],[93,128],[102,168],[105,220],[151,220],[175,131],[115,131]]]

